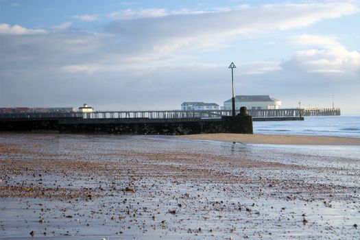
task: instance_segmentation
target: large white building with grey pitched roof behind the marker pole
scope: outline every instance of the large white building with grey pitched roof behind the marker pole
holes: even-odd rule
[[[237,95],[235,109],[245,106],[249,110],[278,109],[281,101],[269,95]],[[224,110],[231,110],[231,99],[224,101]]]

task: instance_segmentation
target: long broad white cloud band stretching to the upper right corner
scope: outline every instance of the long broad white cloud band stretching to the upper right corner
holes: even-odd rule
[[[303,3],[265,5],[259,8],[238,8],[219,12],[166,14],[141,17],[139,12],[126,10],[118,15],[121,20],[105,27],[110,34],[131,39],[134,44],[158,53],[219,49],[228,47],[235,37],[285,31],[358,12],[350,3]],[[155,16],[155,15],[154,15]]]

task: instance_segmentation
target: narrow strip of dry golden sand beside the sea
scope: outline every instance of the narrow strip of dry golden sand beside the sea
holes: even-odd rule
[[[341,136],[309,136],[280,134],[189,134],[182,139],[241,142],[272,145],[352,145],[360,146],[360,139]]]

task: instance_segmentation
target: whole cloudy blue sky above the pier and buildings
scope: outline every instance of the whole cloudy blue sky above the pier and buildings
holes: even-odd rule
[[[360,113],[360,1],[0,0],[0,106],[270,95]]]

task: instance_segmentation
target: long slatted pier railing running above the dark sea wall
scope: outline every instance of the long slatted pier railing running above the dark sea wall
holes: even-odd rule
[[[236,114],[239,110],[235,111]],[[340,115],[339,108],[307,110],[302,108],[248,110],[254,118],[261,117],[304,117]],[[0,119],[36,119],[36,118],[82,118],[82,119],[214,119],[231,116],[231,110],[138,110],[106,112],[21,112],[0,113]]]

